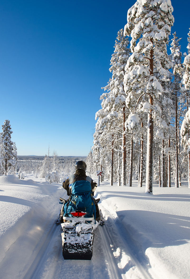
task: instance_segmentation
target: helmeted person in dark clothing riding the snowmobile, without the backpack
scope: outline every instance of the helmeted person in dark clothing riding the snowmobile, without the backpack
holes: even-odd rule
[[[94,196],[94,191],[97,188],[97,183],[92,180],[91,177],[86,175],[86,163],[84,161],[78,161],[75,164],[75,174],[69,175],[69,177],[63,182],[63,188],[67,190],[67,195],[70,196],[69,185],[75,181],[87,180],[91,183],[92,196]],[[93,198],[94,199],[94,198]],[[99,218],[99,208],[98,200],[94,199],[94,204],[96,206],[96,219]]]

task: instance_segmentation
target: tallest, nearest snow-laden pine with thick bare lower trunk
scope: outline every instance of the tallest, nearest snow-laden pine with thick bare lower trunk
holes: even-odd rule
[[[128,92],[126,102],[133,111],[137,109],[138,103],[149,103],[146,192],[150,194],[153,179],[155,106],[159,103],[159,95],[164,93],[160,81],[164,81],[169,75],[168,69],[172,66],[166,49],[174,23],[172,11],[170,0],[139,0],[128,10],[124,32],[132,37],[133,52],[128,59],[124,77],[125,91]]]

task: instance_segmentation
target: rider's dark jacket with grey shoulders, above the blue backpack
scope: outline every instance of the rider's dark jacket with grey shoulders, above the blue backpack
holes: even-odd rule
[[[87,180],[91,182],[92,195],[94,196],[94,191],[96,190],[97,183],[94,182],[91,177],[87,176],[84,170],[76,170],[75,174],[69,175],[69,177],[63,182],[63,188],[67,190],[67,195],[70,196],[69,185],[74,183],[75,181],[80,180]]]

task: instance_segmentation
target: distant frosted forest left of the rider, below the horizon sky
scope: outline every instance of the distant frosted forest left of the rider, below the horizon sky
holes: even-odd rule
[[[0,133],[0,175],[18,173],[18,178],[24,179],[25,172],[50,183],[60,183],[74,172],[77,161],[86,160],[86,157],[58,156],[56,151],[52,156],[18,156],[12,133],[10,121],[5,120]]]

